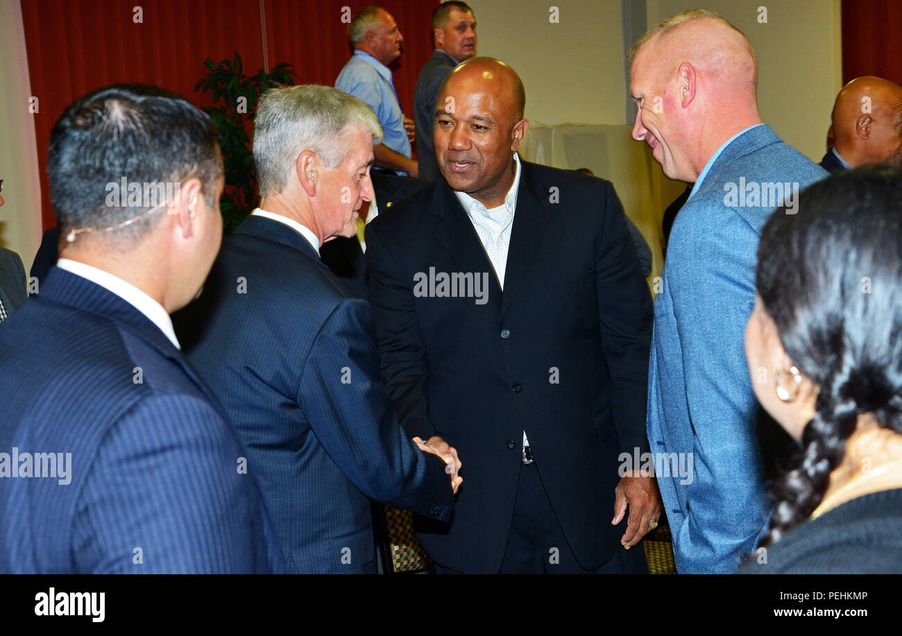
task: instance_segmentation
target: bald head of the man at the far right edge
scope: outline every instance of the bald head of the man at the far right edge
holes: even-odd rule
[[[902,87],[873,76],[854,78],[833,104],[836,152],[852,167],[902,165]]]

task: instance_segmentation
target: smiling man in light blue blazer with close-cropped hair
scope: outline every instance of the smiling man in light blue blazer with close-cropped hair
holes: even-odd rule
[[[667,177],[695,183],[655,301],[649,442],[676,569],[733,572],[769,511],[743,352],[759,232],[826,172],[761,124],[754,51],[719,14],[669,18],[633,45],[630,63],[633,138]]]

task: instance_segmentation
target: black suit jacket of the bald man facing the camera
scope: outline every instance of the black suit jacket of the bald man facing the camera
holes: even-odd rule
[[[382,375],[401,424],[445,438],[464,463],[450,527],[419,535],[439,564],[499,571],[523,430],[580,565],[622,549],[625,521],[611,525],[618,456],[648,449],[651,335],[624,218],[610,182],[522,161],[503,293],[445,180],[368,228]],[[487,301],[429,297],[415,280],[430,268],[488,272]]]

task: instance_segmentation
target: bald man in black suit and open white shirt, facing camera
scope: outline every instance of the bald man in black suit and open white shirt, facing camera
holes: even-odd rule
[[[618,462],[648,451],[651,307],[620,201],[520,160],[525,93],[503,62],[465,61],[446,98],[444,179],[366,235],[401,424],[466,457],[454,520],[425,521],[420,542],[440,572],[641,571],[660,500]]]

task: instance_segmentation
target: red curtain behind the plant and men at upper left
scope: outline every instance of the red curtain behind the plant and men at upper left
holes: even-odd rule
[[[261,11],[262,4],[262,11]],[[194,92],[207,73],[207,58],[238,51],[244,72],[263,67],[261,20],[265,16],[270,66],[290,62],[299,84],[333,85],[351,55],[347,12],[366,6],[353,0],[22,0],[25,46],[41,168],[41,220],[56,224],[47,181],[47,143],[62,109],[76,97],[115,82],[142,82],[209,106],[211,95]],[[383,0],[404,36],[394,85],[412,116],[419,69],[432,55],[429,17],[437,0]],[[141,14],[134,9],[138,6]],[[138,17],[143,22],[136,22]]]

